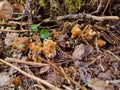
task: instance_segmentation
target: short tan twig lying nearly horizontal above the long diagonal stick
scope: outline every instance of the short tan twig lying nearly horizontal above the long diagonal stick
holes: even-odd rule
[[[48,64],[43,64],[43,63],[37,63],[37,62],[30,62],[30,61],[24,61],[24,60],[18,60],[18,59],[14,59],[14,58],[5,58],[5,61],[7,62],[14,62],[14,63],[21,63],[21,64],[26,64],[26,65],[32,65],[32,66],[49,66]]]

